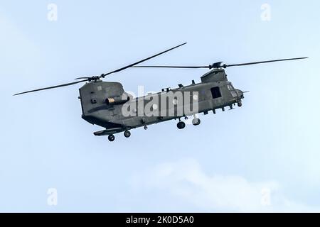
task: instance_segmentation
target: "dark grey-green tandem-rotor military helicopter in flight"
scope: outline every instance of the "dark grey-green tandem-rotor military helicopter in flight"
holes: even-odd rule
[[[174,48],[160,52],[144,60],[139,60],[131,65],[124,66],[118,70],[101,74],[100,76],[78,77],[76,82],[60,84],[53,87],[34,89],[28,92],[21,92],[14,95],[38,92],[46,89],[66,87],[82,82],[85,83],[80,87],[80,104],[82,108],[82,118],[94,125],[105,128],[97,131],[94,135],[107,135],[108,140],[114,141],[114,134],[124,132],[124,137],[129,138],[130,130],[133,128],[144,127],[178,119],[178,129],[186,127],[186,123],[181,118],[188,119],[193,116],[192,123],[198,126],[201,120],[196,114],[208,114],[217,109],[225,111],[225,107],[230,106],[233,109],[235,104],[242,106],[244,93],[240,89],[235,89],[233,84],[228,81],[225,68],[245,65],[255,65],[268,62],[280,62],[288,60],[301,60],[307,57],[288,58],[281,60],[268,60],[263,62],[247,62],[235,65],[226,65],[223,62],[216,62],[206,66],[164,66],[164,65],[139,65],[146,60],[163,55],[166,52],[186,45],[182,43]],[[130,67],[153,67],[153,68],[187,68],[198,69],[207,68],[210,71],[201,77],[201,83],[196,84],[194,80],[191,84],[183,86],[178,84],[175,89],[165,88],[155,94],[147,94],[134,98],[131,94],[124,92],[123,86],[119,82],[103,82],[102,79],[126,70]]]

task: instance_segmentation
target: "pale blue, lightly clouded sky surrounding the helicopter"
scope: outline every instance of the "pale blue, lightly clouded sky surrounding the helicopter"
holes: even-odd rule
[[[320,211],[319,1],[0,0],[0,211]],[[53,4],[53,5],[52,5]],[[56,7],[56,10],[55,10]],[[122,133],[81,118],[81,84],[183,42],[152,65],[230,67],[241,108]],[[200,82],[201,70],[128,69],[137,94]]]

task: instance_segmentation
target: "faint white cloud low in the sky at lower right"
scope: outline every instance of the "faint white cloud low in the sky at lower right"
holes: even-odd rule
[[[244,177],[208,175],[196,160],[168,162],[134,175],[137,189],[169,192],[194,211],[319,211],[284,196],[277,182],[249,182]]]

